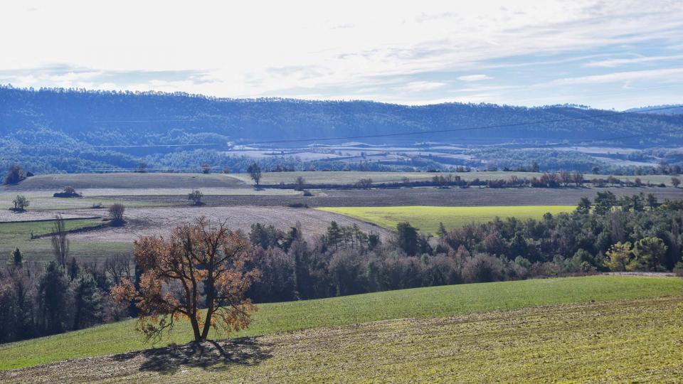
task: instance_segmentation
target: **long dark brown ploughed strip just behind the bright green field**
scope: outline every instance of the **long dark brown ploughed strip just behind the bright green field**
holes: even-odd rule
[[[204,196],[210,206],[563,206],[578,203],[598,191],[617,196],[653,193],[660,201],[683,198],[683,188],[396,188],[315,191],[315,196]],[[107,196],[103,196],[107,197]],[[186,202],[186,196],[117,196],[120,199]]]

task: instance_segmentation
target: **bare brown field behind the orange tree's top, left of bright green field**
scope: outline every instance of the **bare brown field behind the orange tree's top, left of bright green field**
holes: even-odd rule
[[[86,210],[83,213],[90,213]],[[79,212],[75,210],[74,212]],[[100,210],[105,216],[105,210]],[[129,208],[126,210],[127,224],[120,228],[105,228],[92,232],[74,233],[70,239],[75,242],[132,242],[142,235],[169,235],[177,225],[206,216],[209,220],[226,221],[234,229],[248,233],[253,223],[274,225],[275,228],[287,230],[301,223],[305,236],[322,235],[330,222],[340,225],[358,224],[361,230],[373,232],[387,238],[391,232],[377,225],[364,223],[344,215],[322,212],[307,208],[233,206],[233,207],[176,207],[176,208]]]

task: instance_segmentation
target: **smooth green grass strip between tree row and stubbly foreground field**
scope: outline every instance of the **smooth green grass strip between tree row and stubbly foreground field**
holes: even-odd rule
[[[262,304],[253,324],[237,336],[275,334],[367,321],[428,318],[546,304],[662,297],[683,293],[683,279],[593,276],[519,282],[463,284],[406,289],[332,299]],[[218,336],[213,335],[216,338]],[[157,346],[186,343],[188,327]],[[36,366],[86,356],[150,348],[134,331],[133,321],[97,326],[0,346],[0,370]]]

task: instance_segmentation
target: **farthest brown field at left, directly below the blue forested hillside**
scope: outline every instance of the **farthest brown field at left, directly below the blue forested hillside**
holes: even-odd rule
[[[73,188],[250,188],[250,185],[224,174],[52,174],[37,175],[3,191],[54,190]]]

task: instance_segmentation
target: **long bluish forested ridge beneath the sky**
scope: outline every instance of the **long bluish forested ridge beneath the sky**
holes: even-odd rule
[[[276,149],[349,141],[409,146],[440,142],[476,147],[625,137],[600,145],[683,145],[683,115],[614,113],[618,112],[583,106],[407,106],[5,86],[0,87],[0,166],[21,162],[33,164],[36,169],[74,171],[132,167],[141,159],[151,164],[197,166],[197,153],[217,164],[228,156],[224,153],[231,144],[255,142],[264,143],[262,146],[277,142],[272,145]],[[524,124],[539,121],[551,122]],[[324,140],[334,137],[344,139]],[[282,142],[287,140],[305,141]],[[181,146],[186,144],[196,146]],[[172,160],[162,161],[162,157],[171,155]],[[242,167],[243,163],[236,166]]]

